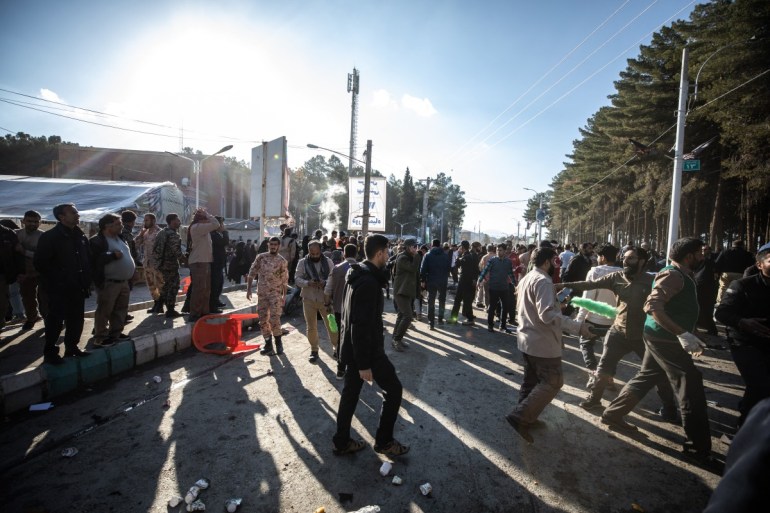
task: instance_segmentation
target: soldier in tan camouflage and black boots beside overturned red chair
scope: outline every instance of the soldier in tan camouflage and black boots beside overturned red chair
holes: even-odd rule
[[[278,254],[281,240],[271,237],[267,243],[267,253],[260,253],[254,259],[246,281],[246,299],[251,300],[251,284],[257,280],[257,314],[259,327],[265,338],[265,347],[261,354],[272,356],[283,354],[281,341],[281,313],[286,297],[286,287],[289,284],[289,265],[286,259]],[[272,337],[270,336],[272,334]],[[275,338],[275,351],[273,351]]]

